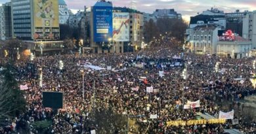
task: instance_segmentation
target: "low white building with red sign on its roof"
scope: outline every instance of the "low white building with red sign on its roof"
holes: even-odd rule
[[[251,56],[251,41],[238,35],[228,38],[219,37],[217,42],[217,56],[226,58],[246,58]],[[224,37],[224,38],[223,38]]]

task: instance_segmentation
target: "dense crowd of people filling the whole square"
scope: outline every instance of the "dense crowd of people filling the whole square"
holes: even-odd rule
[[[126,133],[127,124],[108,122],[106,125],[112,128],[108,130],[98,126],[95,113],[109,109],[114,114],[136,120],[138,127],[129,126],[129,133],[223,133],[224,129],[234,127],[244,133],[256,133],[255,120],[245,124],[240,114],[235,114],[239,119],[236,126],[232,126],[230,120],[226,124],[167,126],[169,121],[195,120],[196,112],[218,118],[219,110],[228,112],[234,109],[245,96],[255,95],[256,90],[249,80],[254,73],[253,58],[184,54],[169,42],[161,43],[166,46],[125,54],[66,54],[17,61],[17,80],[19,84],[28,84],[24,96],[28,105],[26,112],[12,120],[12,124],[0,127],[0,133],[11,133],[24,127],[29,133],[39,133],[32,124],[41,120],[53,121],[48,133],[90,133],[93,129],[96,133]],[[60,60],[64,62],[62,70],[59,69]],[[42,88],[38,76],[28,72],[28,62],[35,64],[37,70],[43,67]],[[219,69],[215,69],[217,62]],[[181,76],[185,64],[186,80]],[[111,66],[111,69],[94,70],[83,65]],[[81,70],[85,73],[84,99]],[[160,71],[164,76],[160,76]],[[148,93],[147,87],[158,90]],[[63,109],[54,113],[43,107],[42,91],[63,92]],[[200,108],[183,109],[182,104],[197,100],[200,100]],[[227,103],[231,106],[226,107]],[[158,118],[150,119],[151,114],[157,114]],[[102,122],[104,120],[102,117]]]

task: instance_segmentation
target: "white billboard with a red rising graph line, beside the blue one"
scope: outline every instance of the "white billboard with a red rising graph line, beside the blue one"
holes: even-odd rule
[[[114,41],[129,41],[129,12],[113,12]]]

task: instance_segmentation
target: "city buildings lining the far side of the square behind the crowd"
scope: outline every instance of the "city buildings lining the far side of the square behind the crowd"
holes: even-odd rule
[[[21,39],[30,43],[38,44],[41,41],[48,41],[50,44],[58,44],[60,41],[60,25],[79,28],[80,44],[88,46],[94,52],[104,52],[102,48],[111,44],[108,52],[123,52],[125,46],[132,44],[136,48],[143,48],[144,24],[159,18],[175,18],[182,20],[182,14],[175,9],[156,9],[153,14],[136,10],[132,3],[131,8],[115,7],[109,1],[98,1],[93,7],[84,7],[75,14],[67,7],[64,0],[46,1],[45,3],[33,3],[33,1],[18,0],[5,3],[0,7],[0,40],[11,38]],[[116,29],[123,25],[118,18],[111,18],[111,25],[106,29],[95,29],[96,15],[95,7],[111,7],[110,10],[116,15],[127,15],[125,26],[126,31],[120,31],[114,37]],[[112,14],[110,15],[110,17]],[[128,17],[129,16],[129,17]],[[123,18],[121,18],[123,19]],[[101,21],[101,20],[97,20]],[[118,23],[117,23],[118,22]],[[129,22],[129,23],[128,23]],[[188,29],[184,31],[186,47],[190,52],[198,54],[220,54],[240,58],[248,55],[249,50],[256,48],[256,11],[245,10],[240,12],[224,12],[218,8],[211,8],[190,17]],[[129,27],[129,29],[128,29]],[[96,39],[95,30],[105,33],[101,39]],[[103,31],[102,31],[103,30]],[[232,52],[224,52],[217,48],[218,40],[227,30],[231,30],[235,37],[241,37],[246,47],[242,52],[234,48]],[[99,31],[97,31],[99,32]],[[106,35],[108,33],[108,35]],[[113,36],[112,36],[113,35]],[[235,40],[234,40],[235,41]],[[110,43],[108,43],[110,42]],[[112,43],[111,43],[112,42]],[[47,42],[46,42],[47,43]],[[244,46],[243,46],[244,47]],[[236,55],[236,56],[235,56]]]

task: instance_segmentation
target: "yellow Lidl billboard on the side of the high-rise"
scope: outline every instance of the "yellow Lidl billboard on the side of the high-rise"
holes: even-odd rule
[[[35,27],[58,27],[58,1],[33,0]]]

